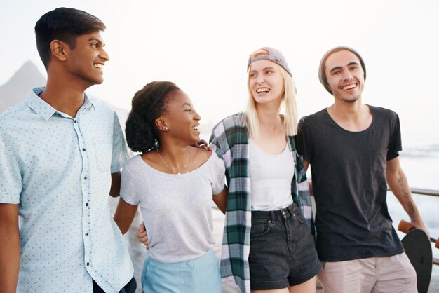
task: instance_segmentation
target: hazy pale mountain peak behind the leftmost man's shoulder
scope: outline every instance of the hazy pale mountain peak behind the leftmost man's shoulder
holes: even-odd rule
[[[41,74],[35,64],[31,61],[25,62],[7,83],[0,86],[0,113],[24,101],[31,88],[45,84],[46,77]]]

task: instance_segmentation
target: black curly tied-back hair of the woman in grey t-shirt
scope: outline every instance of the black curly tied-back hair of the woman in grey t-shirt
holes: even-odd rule
[[[131,111],[125,123],[128,147],[146,153],[156,149],[160,143],[154,121],[166,111],[167,97],[180,90],[170,81],[153,81],[135,93]]]

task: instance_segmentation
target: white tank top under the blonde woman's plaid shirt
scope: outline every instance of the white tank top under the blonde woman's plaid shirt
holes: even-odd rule
[[[291,182],[295,162],[288,143],[281,154],[267,154],[249,139],[252,210],[281,210],[292,204]]]

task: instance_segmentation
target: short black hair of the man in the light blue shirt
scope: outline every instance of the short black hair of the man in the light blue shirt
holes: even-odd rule
[[[51,41],[65,42],[73,50],[78,36],[105,29],[99,18],[75,8],[60,7],[44,14],[35,25],[36,49],[44,67],[47,69],[50,61]]]

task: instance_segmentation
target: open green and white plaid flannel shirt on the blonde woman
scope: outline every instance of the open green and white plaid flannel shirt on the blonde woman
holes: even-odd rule
[[[314,234],[311,196],[308,184],[297,182],[306,180],[302,156],[297,154],[295,139],[288,137],[292,157],[295,158],[295,177],[291,182],[293,201],[300,207]],[[229,187],[227,212],[222,239],[221,275],[229,282],[236,282],[243,293],[250,292],[251,203],[250,172],[248,166],[248,128],[245,114],[238,113],[220,121],[212,130],[210,149],[222,158],[226,167]]]

